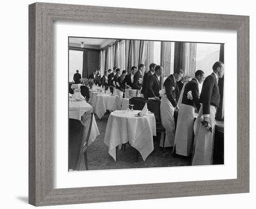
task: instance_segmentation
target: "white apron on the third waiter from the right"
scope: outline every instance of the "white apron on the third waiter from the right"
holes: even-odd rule
[[[175,138],[174,107],[170,103],[166,94],[162,95],[160,114],[162,125],[166,131],[164,147],[172,147],[174,145]],[[160,146],[163,147],[163,138],[161,138]]]

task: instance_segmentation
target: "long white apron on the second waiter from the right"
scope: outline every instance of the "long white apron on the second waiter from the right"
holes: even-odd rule
[[[194,137],[195,107],[181,104],[177,119],[174,148],[176,154],[189,156]]]

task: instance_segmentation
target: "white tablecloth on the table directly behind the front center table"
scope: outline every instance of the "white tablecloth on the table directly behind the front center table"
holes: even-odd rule
[[[107,110],[120,110],[121,106],[118,104],[118,96],[111,96],[111,94],[98,94],[94,96],[95,101],[92,101],[94,113],[102,118]]]

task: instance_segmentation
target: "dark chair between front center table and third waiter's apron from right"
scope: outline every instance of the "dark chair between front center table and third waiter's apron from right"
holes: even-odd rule
[[[156,132],[157,133],[160,132],[161,134],[163,134],[163,149],[164,149],[166,132],[161,122],[160,104],[161,104],[160,100],[149,99],[147,101],[148,110],[153,112],[155,115]]]

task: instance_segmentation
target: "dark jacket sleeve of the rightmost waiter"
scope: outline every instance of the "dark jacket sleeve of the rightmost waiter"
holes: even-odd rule
[[[215,79],[212,76],[208,76],[205,78],[202,85],[202,92],[200,95],[200,100],[202,101],[202,114],[209,115],[210,114],[210,101],[211,95],[214,87]]]

